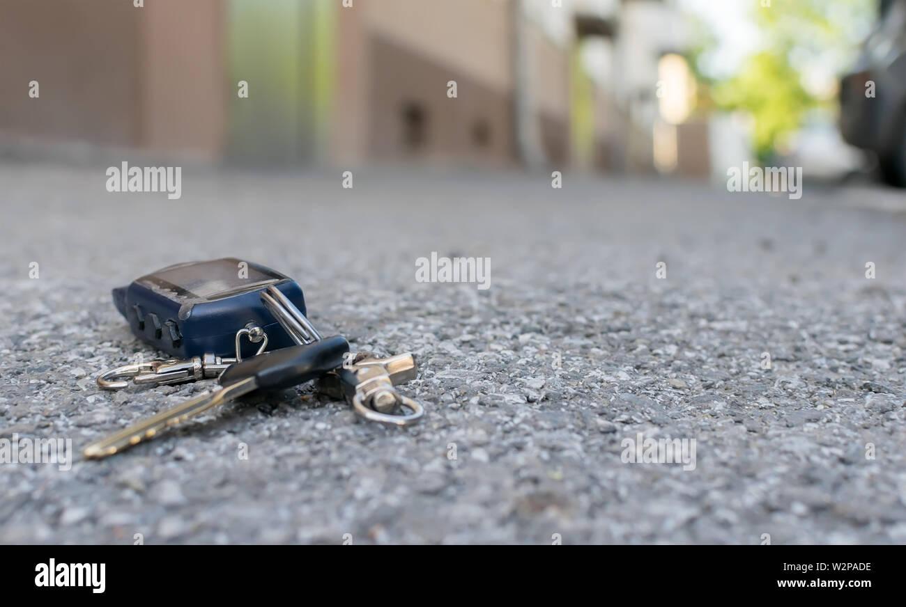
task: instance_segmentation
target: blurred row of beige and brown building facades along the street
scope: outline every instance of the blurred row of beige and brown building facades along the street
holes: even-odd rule
[[[645,171],[664,128],[660,60],[683,45],[658,0],[140,4],[5,0],[0,54],[18,59],[0,63],[7,147]],[[677,131],[677,158],[677,142],[702,147]]]

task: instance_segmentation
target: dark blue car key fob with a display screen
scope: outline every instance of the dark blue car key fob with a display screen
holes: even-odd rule
[[[237,332],[260,327],[266,350],[294,346],[293,339],[262,303],[272,286],[305,314],[302,288],[270,268],[233,258],[190,261],[151,272],[113,289],[113,303],[137,337],[177,358],[212,353],[233,356]],[[258,346],[241,342],[242,356]]]

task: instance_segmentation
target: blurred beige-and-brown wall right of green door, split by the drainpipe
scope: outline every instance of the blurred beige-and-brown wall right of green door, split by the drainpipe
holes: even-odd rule
[[[516,162],[508,0],[355,0],[337,11],[334,158]],[[570,153],[568,50],[532,28],[528,62],[537,129],[546,156],[564,163]],[[451,80],[457,81],[455,100],[447,97]]]

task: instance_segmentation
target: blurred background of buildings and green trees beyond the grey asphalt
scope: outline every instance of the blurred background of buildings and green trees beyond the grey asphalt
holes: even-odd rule
[[[902,0],[139,4],[5,3],[7,156],[906,171]]]

